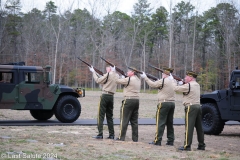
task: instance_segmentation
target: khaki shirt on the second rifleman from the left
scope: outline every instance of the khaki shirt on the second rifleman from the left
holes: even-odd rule
[[[130,82],[128,84],[129,78],[130,78]],[[139,93],[141,89],[141,80],[136,75],[127,77],[127,78],[118,79],[116,82],[119,84],[123,84],[125,86],[128,84],[127,87],[123,88],[124,97],[139,98]]]

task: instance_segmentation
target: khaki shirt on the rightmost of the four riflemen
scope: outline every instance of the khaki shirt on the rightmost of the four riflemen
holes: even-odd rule
[[[190,92],[188,95],[183,95],[183,105],[193,105],[200,104],[200,85],[196,81],[191,81],[190,83]],[[175,86],[176,92],[188,93],[189,84],[186,83],[181,86]]]

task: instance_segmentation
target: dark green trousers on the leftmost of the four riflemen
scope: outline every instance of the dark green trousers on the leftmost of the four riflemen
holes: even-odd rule
[[[113,95],[102,94],[98,107],[98,136],[103,136],[103,121],[106,114],[109,136],[114,136]]]

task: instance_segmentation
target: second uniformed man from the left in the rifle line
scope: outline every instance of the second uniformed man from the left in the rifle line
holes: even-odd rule
[[[124,100],[120,109],[120,133],[116,140],[124,141],[128,123],[132,126],[132,140],[138,141],[138,110],[139,110],[139,93],[141,89],[141,80],[136,73],[128,70],[128,77],[118,79],[118,84],[125,85],[123,88]]]

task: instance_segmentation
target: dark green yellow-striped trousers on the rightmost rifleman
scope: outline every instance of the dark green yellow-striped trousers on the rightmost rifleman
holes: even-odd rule
[[[196,127],[197,131],[198,147],[205,148],[204,132],[202,129],[202,108],[199,104],[185,107],[185,149],[191,148],[194,127]]]

